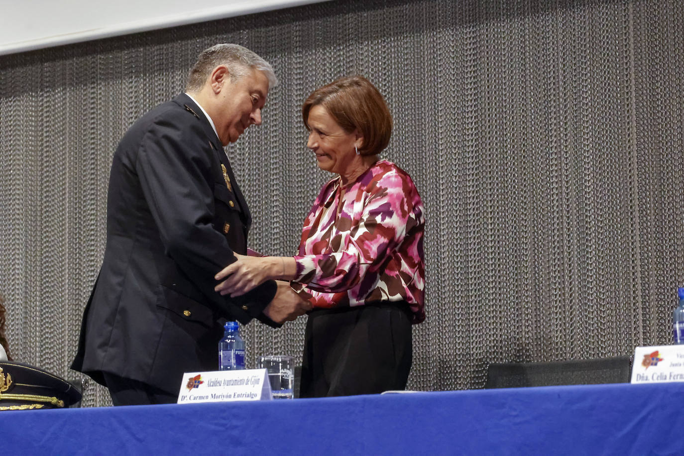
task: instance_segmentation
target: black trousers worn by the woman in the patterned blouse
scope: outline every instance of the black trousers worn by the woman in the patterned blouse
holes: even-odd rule
[[[310,312],[300,397],[406,388],[413,356],[409,312],[404,301]]]

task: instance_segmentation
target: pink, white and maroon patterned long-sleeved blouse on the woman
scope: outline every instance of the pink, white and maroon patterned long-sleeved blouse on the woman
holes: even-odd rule
[[[407,301],[412,323],[425,319],[423,202],[410,176],[378,161],[347,185],[323,186],[304,221],[293,289],[315,308]]]

